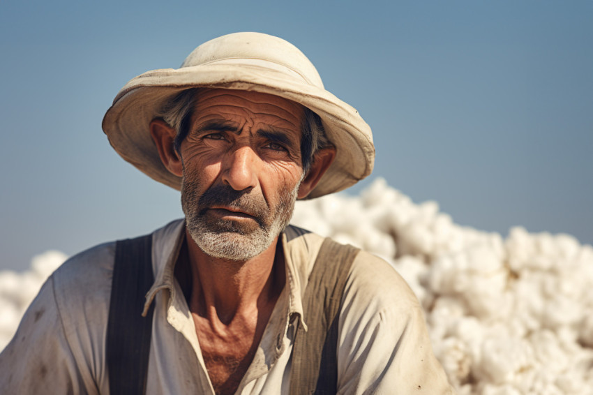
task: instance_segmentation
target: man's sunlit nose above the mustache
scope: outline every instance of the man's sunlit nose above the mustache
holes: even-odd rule
[[[223,182],[235,191],[254,188],[257,185],[255,167],[258,158],[251,147],[239,147],[227,154],[223,163]]]

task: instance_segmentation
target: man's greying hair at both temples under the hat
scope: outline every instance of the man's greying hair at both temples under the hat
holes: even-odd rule
[[[200,88],[186,89],[176,96],[173,96],[163,105],[156,118],[162,118],[169,126],[177,131],[174,141],[174,147],[177,152],[181,148],[181,142],[186,138],[189,132],[189,123],[193,113],[193,108],[197,102],[197,92]],[[303,158],[303,172],[306,174],[313,158],[320,149],[333,147],[333,144],[327,138],[321,118],[312,110],[304,107],[305,116],[303,117],[302,136],[301,136],[301,157]]]

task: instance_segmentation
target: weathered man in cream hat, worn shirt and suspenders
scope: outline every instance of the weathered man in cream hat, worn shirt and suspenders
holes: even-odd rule
[[[296,199],[347,188],[374,159],[368,125],[324,90],[296,47],[260,33],[204,43],[181,68],[128,82],[103,130],[126,161],[181,190],[185,214],[149,237],[155,279],[145,299],[140,293],[143,315],[153,311],[142,391],[451,392],[418,301],[389,264],[329,250],[322,237],[287,226]],[[111,351],[111,338],[140,317],[111,317],[129,299],[112,293],[126,292],[114,266],[130,267],[119,248],[91,248],[48,279],[0,357],[6,393],[117,390],[128,370],[114,368],[110,352],[125,354],[141,333]],[[337,303],[321,296],[326,288],[339,289]],[[326,301],[335,318],[315,310]],[[322,348],[301,352],[316,334]],[[327,364],[334,373],[324,373]]]

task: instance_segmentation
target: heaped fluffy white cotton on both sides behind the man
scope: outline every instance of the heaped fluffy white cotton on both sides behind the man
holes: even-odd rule
[[[566,234],[507,239],[456,225],[377,179],[358,197],[297,203],[295,225],[380,255],[420,299],[449,381],[463,394],[593,393],[593,248]],[[0,349],[65,256],[0,272]]]

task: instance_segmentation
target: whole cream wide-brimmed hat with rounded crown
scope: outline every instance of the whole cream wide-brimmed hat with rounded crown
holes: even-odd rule
[[[320,116],[336,146],[333,161],[309,197],[341,191],[373,170],[375,147],[359,113],[323,87],[315,66],[294,45],[263,33],[214,38],[189,54],[180,68],[163,68],[128,82],[103,118],[112,147],[156,181],[181,188],[181,178],[160,161],[149,124],[167,100],[185,89],[241,89],[300,103]]]

